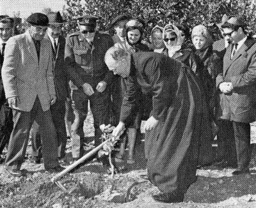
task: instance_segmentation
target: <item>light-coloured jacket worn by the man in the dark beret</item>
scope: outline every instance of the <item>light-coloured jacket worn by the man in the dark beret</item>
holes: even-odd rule
[[[13,36],[4,51],[2,78],[6,98],[19,96],[17,109],[29,112],[38,96],[42,109],[49,110],[50,95],[55,95],[51,42],[41,41],[40,60],[29,31]]]

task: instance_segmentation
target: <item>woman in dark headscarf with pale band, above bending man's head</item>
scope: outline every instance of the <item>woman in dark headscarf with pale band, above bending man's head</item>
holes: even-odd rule
[[[147,45],[141,43],[142,35],[143,35],[143,23],[140,20],[137,20],[137,19],[129,20],[125,25],[125,32],[126,32],[126,40],[122,43],[115,43],[116,47],[123,48],[129,54],[133,54],[138,51],[149,51],[149,48],[147,47]],[[124,94],[127,88],[125,84],[125,80],[123,78],[120,77],[119,81],[120,81],[120,85],[119,85],[120,88],[118,89],[119,91],[116,92],[116,95],[113,97],[113,99],[115,99],[116,102],[119,103],[118,105],[116,105],[118,108],[118,112],[120,112],[120,107],[122,105]],[[134,116],[134,121],[130,123],[129,128],[127,128],[127,138],[129,142],[129,151],[128,151],[128,158],[127,158],[128,164],[133,164],[135,162],[134,145],[135,145],[137,133],[140,130],[141,119],[144,114],[144,106],[147,100],[147,98],[145,97],[143,98],[141,94],[138,94],[137,96],[138,98],[140,98],[138,99],[139,110],[138,110],[138,113]],[[150,106],[150,104],[148,104],[147,107],[148,106]],[[115,156],[116,162],[124,161],[123,159],[125,155],[125,142],[126,142],[126,137],[122,140],[120,144],[120,152]]]

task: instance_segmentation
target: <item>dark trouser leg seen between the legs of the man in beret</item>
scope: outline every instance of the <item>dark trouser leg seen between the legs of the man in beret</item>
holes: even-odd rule
[[[33,122],[31,130],[31,145],[32,145],[32,156],[42,158],[42,142],[40,138],[39,125],[36,121]]]

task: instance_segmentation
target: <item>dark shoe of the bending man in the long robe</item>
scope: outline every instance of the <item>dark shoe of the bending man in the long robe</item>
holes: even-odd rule
[[[179,203],[183,202],[184,194],[172,192],[172,193],[159,193],[157,195],[152,195],[152,198],[157,202],[164,202],[164,203]]]

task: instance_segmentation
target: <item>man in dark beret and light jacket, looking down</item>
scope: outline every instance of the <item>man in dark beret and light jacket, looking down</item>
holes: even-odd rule
[[[63,170],[58,163],[56,130],[50,106],[56,101],[52,73],[51,41],[44,38],[49,23],[42,13],[27,19],[28,30],[10,38],[2,68],[3,85],[8,104],[13,108],[13,131],[6,156],[6,170],[20,176],[33,121],[40,126],[45,170]]]

